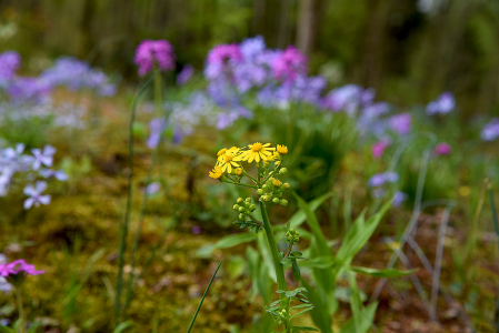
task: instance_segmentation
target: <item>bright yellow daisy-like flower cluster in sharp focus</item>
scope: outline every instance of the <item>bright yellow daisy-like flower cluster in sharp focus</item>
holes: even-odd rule
[[[275,160],[280,160],[280,155],[288,153],[286,145],[278,144],[277,149],[270,147],[270,143],[262,144],[255,142],[249,144],[248,149],[232,147],[230,149],[222,149],[217,153],[217,164],[209,173],[212,179],[220,179],[226,172],[242,175],[241,162],[269,163]],[[279,161],[278,161],[279,162]],[[278,163],[276,162],[276,163]]]

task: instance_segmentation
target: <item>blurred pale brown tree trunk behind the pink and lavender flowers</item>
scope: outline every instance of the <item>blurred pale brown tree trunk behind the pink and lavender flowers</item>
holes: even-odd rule
[[[322,3],[322,0],[300,0],[299,2],[297,46],[307,56],[311,54],[316,46]]]

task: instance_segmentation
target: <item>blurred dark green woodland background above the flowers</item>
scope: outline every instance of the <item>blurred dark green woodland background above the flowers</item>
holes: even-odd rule
[[[76,56],[137,80],[142,39],[168,39],[179,64],[202,68],[218,43],[262,34],[271,48],[295,43],[312,73],[338,85],[376,88],[399,105],[453,92],[460,114],[491,114],[499,99],[496,0],[2,0],[0,51],[39,71]],[[26,64],[24,64],[26,65]]]

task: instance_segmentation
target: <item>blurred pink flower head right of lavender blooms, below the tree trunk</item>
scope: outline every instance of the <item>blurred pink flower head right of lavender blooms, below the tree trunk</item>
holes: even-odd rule
[[[295,81],[298,75],[306,75],[308,58],[293,46],[289,46],[272,62],[273,77],[278,80]]]

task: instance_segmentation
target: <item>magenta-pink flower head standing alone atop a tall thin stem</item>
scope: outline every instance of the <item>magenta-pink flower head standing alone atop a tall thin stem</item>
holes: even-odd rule
[[[161,71],[168,71],[174,68],[174,60],[173,47],[167,40],[143,40],[133,59],[141,77],[153,69],[154,61]]]

